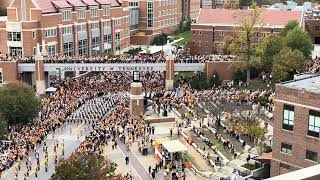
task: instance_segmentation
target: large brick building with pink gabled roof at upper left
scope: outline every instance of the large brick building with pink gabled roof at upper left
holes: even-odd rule
[[[3,53],[34,55],[42,41],[49,55],[119,53],[130,45],[129,11],[117,0],[13,0],[0,27]]]

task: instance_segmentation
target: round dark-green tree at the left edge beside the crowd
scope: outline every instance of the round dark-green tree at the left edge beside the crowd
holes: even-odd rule
[[[25,124],[38,116],[40,100],[26,83],[9,83],[0,88],[0,116],[7,125]]]

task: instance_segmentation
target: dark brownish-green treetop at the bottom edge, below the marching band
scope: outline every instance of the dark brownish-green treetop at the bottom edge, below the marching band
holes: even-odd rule
[[[59,161],[53,180],[116,180],[117,164],[94,153],[76,153]]]

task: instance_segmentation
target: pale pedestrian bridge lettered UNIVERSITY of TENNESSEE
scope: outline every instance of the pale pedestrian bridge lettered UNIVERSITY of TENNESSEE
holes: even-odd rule
[[[175,63],[174,71],[204,71],[205,63]],[[19,73],[35,72],[33,63],[19,63]],[[44,63],[45,72],[166,71],[166,63]]]

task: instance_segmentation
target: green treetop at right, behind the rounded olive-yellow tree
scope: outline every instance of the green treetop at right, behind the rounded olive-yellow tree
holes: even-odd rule
[[[296,27],[289,31],[285,42],[286,46],[301,51],[306,58],[310,57],[313,45],[308,33],[302,28]]]

